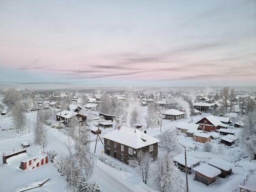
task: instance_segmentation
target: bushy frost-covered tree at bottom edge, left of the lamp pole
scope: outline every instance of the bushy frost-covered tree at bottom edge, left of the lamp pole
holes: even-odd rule
[[[185,191],[185,181],[168,153],[158,157],[151,168],[151,183],[162,192]]]

